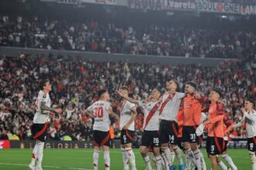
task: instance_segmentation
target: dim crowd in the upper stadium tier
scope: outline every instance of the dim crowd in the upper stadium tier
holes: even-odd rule
[[[1,15],[0,46],[202,58],[243,58],[256,52],[254,30],[116,25]]]

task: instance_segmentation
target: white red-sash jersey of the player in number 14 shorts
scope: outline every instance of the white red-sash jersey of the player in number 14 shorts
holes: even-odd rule
[[[177,114],[185,93],[164,93],[159,110],[160,119],[165,121],[176,121]]]

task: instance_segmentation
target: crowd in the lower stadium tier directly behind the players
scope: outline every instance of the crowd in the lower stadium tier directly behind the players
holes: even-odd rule
[[[0,56],[0,139],[20,140],[31,138],[31,125],[35,113],[35,100],[40,80],[49,78],[53,84],[50,98],[55,107],[64,110],[60,117],[52,117],[49,138],[64,140],[92,140],[92,118],[85,115],[85,109],[97,100],[97,90],[107,87],[112,94],[112,107],[118,114],[119,99],[114,91],[120,85],[130,88],[131,95],[146,98],[153,87],[161,87],[171,78],[178,80],[180,91],[184,83],[193,80],[197,90],[208,95],[209,90],[218,87],[223,90],[226,112],[239,121],[240,107],[245,97],[256,93],[256,63],[254,60],[226,61],[216,68],[204,66],[171,66],[129,63],[96,63],[82,57],[21,55],[20,57]],[[141,113],[140,109],[138,112]],[[137,132],[142,130],[143,116],[139,114]],[[112,121],[115,134],[119,124]],[[244,128],[231,133],[244,137]]]

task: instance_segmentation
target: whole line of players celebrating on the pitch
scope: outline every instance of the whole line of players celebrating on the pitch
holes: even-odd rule
[[[33,139],[36,145],[33,149],[30,169],[42,169],[43,145],[46,138],[47,122],[49,113],[61,113],[61,109],[50,107],[49,92],[51,85],[49,80],[43,81],[41,90],[36,100],[36,114],[33,120]],[[112,111],[109,103],[110,97],[107,90],[99,90],[99,100],[87,108],[87,114],[94,118],[93,124],[93,164],[98,169],[99,151],[103,148],[106,170],[110,169],[110,119],[119,121],[121,131],[121,152],[123,155],[123,166],[125,170],[130,167],[136,170],[136,159],[132,149],[135,131],[135,120],[137,107],[144,110],[143,134],[140,143],[140,153],[144,158],[147,170],[152,170],[151,161],[155,163],[157,170],[198,169],[206,170],[206,163],[200,143],[202,131],[207,130],[206,151],[211,161],[211,168],[216,170],[218,165],[222,169],[227,166],[220,160],[219,156],[237,170],[236,165],[227,155],[227,134],[232,128],[246,124],[248,150],[251,157],[252,169],[256,170],[256,111],[254,100],[247,99],[244,102],[242,120],[234,124],[228,114],[224,111],[221,101],[222,93],[213,89],[209,97],[202,97],[196,91],[196,84],[185,83],[185,92],[180,93],[178,82],[170,80],[164,93],[155,87],[150,96],[144,100],[136,100],[129,97],[128,87],[119,87],[118,93],[122,107],[120,116]],[[207,107],[203,107],[207,106]],[[182,159],[185,154],[185,162]],[[174,165],[175,157],[178,159],[178,167]],[[36,164],[37,160],[37,164]]]

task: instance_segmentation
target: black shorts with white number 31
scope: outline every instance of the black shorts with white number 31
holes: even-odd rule
[[[183,126],[182,139],[184,142],[199,143],[199,137],[195,134],[197,126]]]

